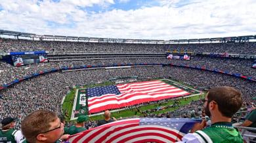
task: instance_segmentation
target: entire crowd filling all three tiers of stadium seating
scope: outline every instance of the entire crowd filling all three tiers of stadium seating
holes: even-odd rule
[[[253,48],[254,47],[254,48]],[[255,53],[255,43],[214,43],[214,44],[190,44],[190,45],[141,45],[141,44],[107,44],[107,43],[77,43],[64,41],[30,41],[3,39],[0,41],[0,52],[17,51],[50,51],[51,53],[68,52],[108,52],[108,53],[164,53],[165,51],[197,51],[197,52],[232,52],[251,54]],[[191,60],[170,60],[165,58],[135,58],[135,59],[108,59],[108,60],[79,60],[45,62],[42,64],[30,64],[28,66],[14,67],[0,62],[1,78],[0,85],[3,86],[11,81],[25,77],[32,73],[39,73],[54,68],[74,67],[98,64],[127,64],[127,63],[164,63],[185,64],[189,66],[201,66],[223,70],[224,72],[238,73],[248,77],[256,78],[256,70],[252,69],[253,60],[244,58],[217,58],[210,56],[193,56]],[[217,86],[230,86],[242,91],[244,102],[253,102],[256,94],[256,83],[247,79],[225,75],[223,73],[208,72],[204,70],[182,68],[178,66],[147,66],[132,67],[125,69],[95,69],[72,72],[53,72],[28,80],[21,81],[11,87],[0,91],[0,121],[3,117],[11,115],[18,117],[20,121],[34,110],[51,110],[61,113],[61,102],[69,88],[75,85],[87,85],[108,81],[115,77],[138,76],[142,79],[150,77],[171,77],[191,85],[196,89],[209,89]],[[180,110],[171,112],[167,117],[187,117],[189,112],[184,108],[202,108],[202,104],[192,104],[181,107]],[[183,109],[182,109],[183,108]],[[181,112],[182,111],[182,112]],[[198,111],[200,112],[200,111]],[[177,113],[182,113],[178,115]],[[201,113],[202,114],[202,113]],[[149,115],[150,116],[150,115]],[[154,117],[155,115],[152,115]],[[158,116],[158,115],[156,115]],[[93,126],[96,122],[93,122]],[[20,124],[16,124],[20,129]]]

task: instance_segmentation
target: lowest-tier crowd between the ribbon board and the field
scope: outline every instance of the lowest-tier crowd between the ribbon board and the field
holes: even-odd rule
[[[139,71],[139,72],[138,72]],[[62,98],[69,87],[108,81],[113,77],[138,76],[148,77],[171,76],[198,89],[209,89],[215,86],[232,86],[244,93],[244,102],[253,102],[255,82],[224,75],[223,73],[181,68],[175,66],[140,67],[116,70],[84,70],[81,72],[54,72],[22,81],[1,91],[1,117],[13,115],[23,117],[33,110],[52,110],[60,113]]]

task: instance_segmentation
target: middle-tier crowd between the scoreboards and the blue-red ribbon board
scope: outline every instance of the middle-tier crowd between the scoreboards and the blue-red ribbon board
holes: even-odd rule
[[[221,70],[223,72],[230,72],[241,74],[247,77],[256,78],[255,69],[251,68],[253,60],[242,58],[216,58],[209,56],[194,56],[191,60],[170,60],[170,59],[117,59],[117,60],[83,60],[83,61],[61,61],[61,62],[45,62],[43,64],[30,64],[22,67],[14,67],[5,62],[0,62],[0,68],[3,70],[0,79],[0,85],[5,85],[31,75],[32,73],[39,73],[45,70],[53,70],[54,68],[62,67],[79,67],[83,65],[97,66],[100,64],[128,64],[128,63],[163,63],[163,64],[184,64],[188,66],[200,66],[202,68],[211,68]],[[8,74],[7,74],[8,73]]]

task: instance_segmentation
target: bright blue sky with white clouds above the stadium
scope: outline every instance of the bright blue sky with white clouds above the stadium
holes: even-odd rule
[[[0,0],[0,29],[125,39],[256,34],[255,0]]]

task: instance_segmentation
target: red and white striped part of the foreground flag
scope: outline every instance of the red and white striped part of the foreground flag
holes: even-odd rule
[[[69,142],[176,142],[184,133],[161,125],[140,125],[140,119],[108,123],[69,137]],[[169,124],[171,125],[171,124]]]

